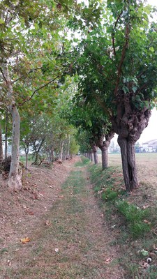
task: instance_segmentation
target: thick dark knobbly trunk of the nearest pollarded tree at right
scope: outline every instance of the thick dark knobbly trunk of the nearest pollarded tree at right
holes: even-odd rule
[[[131,103],[132,95],[120,92],[117,96],[117,116],[113,119],[114,132],[119,135],[121,160],[126,190],[138,187],[137,168],[135,163],[135,142],[139,140],[147,127],[151,112],[148,107],[137,109]]]

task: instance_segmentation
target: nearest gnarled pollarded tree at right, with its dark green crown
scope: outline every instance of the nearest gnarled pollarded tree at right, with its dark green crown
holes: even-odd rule
[[[80,89],[86,81],[86,98],[96,98],[112,121],[126,189],[131,191],[138,186],[135,142],[148,125],[156,98],[156,24],[149,23],[152,9],[142,1],[108,0],[102,5],[101,24],[80,44]]]

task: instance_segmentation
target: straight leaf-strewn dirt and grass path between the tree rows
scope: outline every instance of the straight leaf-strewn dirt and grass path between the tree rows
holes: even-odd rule
[[[31,241],[15,241],[3,252],[1,279],[124,278],[87,175],[84,167],[72,168],[58,198],[30,229]]]

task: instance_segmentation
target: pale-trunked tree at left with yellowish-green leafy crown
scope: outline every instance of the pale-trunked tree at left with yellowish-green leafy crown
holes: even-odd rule
[[[72,1],[69,0],[68,4],[71,5]],[[35,95],[36,101],[43,102],[47,99],[47,103],[51,105],[50,85],[57,89],[61,77],[68,70],[70,72],[70,66],[64,63],[67,60],[64,54],[68,40],[63,40],[59,34],[65,26],[70,8],[67,1],[55,3],[42,0],[3,0],[0,10],[1,102],[13,118],[8,186],[20,190],[19,107],[32,100]],[[45,87],[46,91],[43,90]]]

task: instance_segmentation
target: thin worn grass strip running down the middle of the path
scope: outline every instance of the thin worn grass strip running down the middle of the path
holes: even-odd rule
[[[84,161],[86,164],[87,160]],[[99,263],[92,258],[96,244],[90,238],[87,226],[86,211],[90,204],[86,185],[82,169],[74,169],[63,183],[57,202],[52,202],[43,227],[34,228],[30,243],[16,243],[17,247],[12,248],[12,262],[1,270],[5,272],[4,278],[100,278],[97,276]],[[46,226],[45,220],[49,220],[50,225]]]

